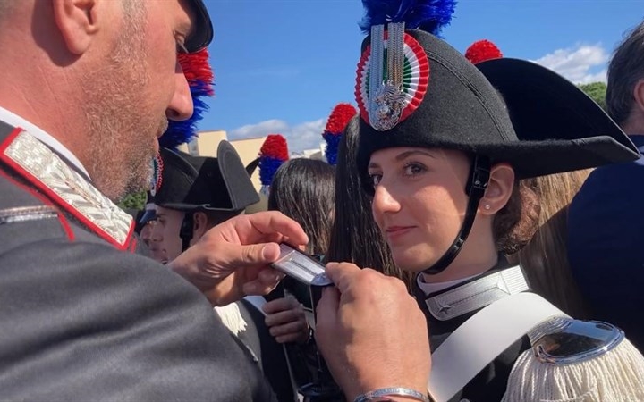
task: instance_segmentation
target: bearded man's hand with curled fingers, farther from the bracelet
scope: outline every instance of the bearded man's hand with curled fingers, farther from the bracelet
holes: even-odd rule
[[[301,246],[309,239],[297,222],[276,211],[236,216],[208,230],[169,266],[213,306],[225,306],[275,288],[283,274],[269,264],[279,257],[281,241]]]

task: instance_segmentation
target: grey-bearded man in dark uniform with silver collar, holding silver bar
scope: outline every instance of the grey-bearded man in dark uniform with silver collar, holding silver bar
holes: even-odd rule
[[[131,217],[109,199],[149,182],[167,119],[191,114],[177,49],[196,51],[211,38],[201,0],[0,2],[0,398],[273,398],[199,291],[127,252]],[[221,300],[266,294],[278,279],[267,264],[286,238],[307,242],[281,214],[237,217],[209,230],[174,269],[208,277],[209,296]],[[364,297],[409,303],[385,279],[371,282]],[[343,301],[341,313],[361,299]],[[365,312],[373,314],[396,323],[387,311]],[[376,334],[392,351],[400,348],[387,342],[393,334],[427,331],[409,317],[398,323],[387,338]],[[352,376],[352,391],[402,378],[368,355],[352,357],[340,351],[337,364],[369,373]]]

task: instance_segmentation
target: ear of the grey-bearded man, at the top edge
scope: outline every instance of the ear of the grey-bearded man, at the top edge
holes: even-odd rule
[[[97,4],[99,0],[52,0],[55,24],[67,49],[72,54],[84,54],[98,31]]]

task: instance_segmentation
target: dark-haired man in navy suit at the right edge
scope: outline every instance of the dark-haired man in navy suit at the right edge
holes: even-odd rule
[[[644,22],[608,67],[608,114],[644,152]],[[568,211],[568,259],[593,318],[620,326],[644,351],[644,157],[597,168]]]

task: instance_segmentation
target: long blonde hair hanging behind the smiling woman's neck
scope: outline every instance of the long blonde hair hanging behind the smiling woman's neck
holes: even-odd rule
[[[591,170],[563,172],[525,180],[540,198],[538,230],[528,244],[508,260],[521,264],[530,287],[575,318],[589,309],[572,278],[566,253],[568,205]]]

